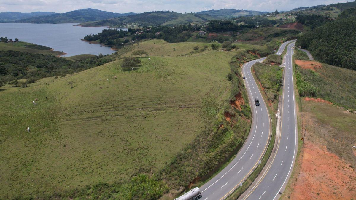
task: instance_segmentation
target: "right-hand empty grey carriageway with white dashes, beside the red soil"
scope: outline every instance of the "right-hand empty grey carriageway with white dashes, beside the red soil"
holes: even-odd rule
[[[292,172],[298,148],[292,68],[294,44],[295,42],[290,43],[287,47],[282,95],[281,132],[277,151],[267,168],[267,172],[244,199],[275,199],[279,195],[279,192],[282,194]]]

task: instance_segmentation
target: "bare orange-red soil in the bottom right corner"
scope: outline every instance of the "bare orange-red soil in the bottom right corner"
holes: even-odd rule
[[[343,160],[306,141],[300,174],[290,199],[353,199],[356,173]]]

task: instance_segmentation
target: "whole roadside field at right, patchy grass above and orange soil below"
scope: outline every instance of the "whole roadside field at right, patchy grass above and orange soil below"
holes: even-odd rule
[[[281,199],[354,199],[355,115],[318,101],[302,100],[302,109],[304,145]]]

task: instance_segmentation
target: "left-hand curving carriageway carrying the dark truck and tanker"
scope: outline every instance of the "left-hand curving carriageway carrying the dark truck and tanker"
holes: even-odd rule
[[[293,41],[283,43],[276,54],[281,55],[290,42]],[[251,74],[252,65],[256,62],[262,62],[264,59],[266,58],[252,60],[242,66],[242,75],[246,77],[245,85],[252,111],[250,133],[234,160],[200,187],[202,200],[225,199],[252,173],[266,151],[271,133],[270,118],[260,90]],[[261,106],[255,106],[255,98],[260,100]]]

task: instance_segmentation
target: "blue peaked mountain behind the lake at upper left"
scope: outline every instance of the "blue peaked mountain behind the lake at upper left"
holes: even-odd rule
[[[27,19],[17,20],[16,22],[23,23],[81,23],[88,21],[98,21],[104,19],[110,19],[114,17],[121,17],[135,14],[133,12],[130,13],[114,13],[114,12],[106,12],[97,9],[81,9],[74,10],[66,13],[56,13],[47,16],[37,16],[31,17]],[[1,19],[0,19],[1,20]]]

